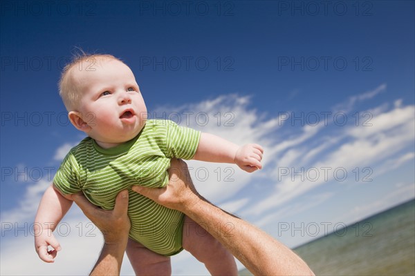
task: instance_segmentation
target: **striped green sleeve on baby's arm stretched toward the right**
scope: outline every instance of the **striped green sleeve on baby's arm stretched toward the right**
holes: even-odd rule
[[[192,159],[199,146],[201,132],[167,121],[167,151],[170,158]]]

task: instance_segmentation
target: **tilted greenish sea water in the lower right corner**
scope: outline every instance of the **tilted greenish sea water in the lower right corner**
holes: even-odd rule
[[[415,200],[294,250],[315,275],[415,275]]]

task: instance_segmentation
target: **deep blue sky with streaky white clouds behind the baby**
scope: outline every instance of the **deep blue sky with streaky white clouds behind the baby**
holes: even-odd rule
[[[75,207],[55,264],[30,233],[84,137],[57,93],[76,47],[124,60],[150,117],[263,145],[253,174],[188,164],[202,195],[288,246],[415,196],[413,1],[1,1],[0,21],[2,275],[84,275],[100,250]],[[206,270],[181,253],[173,273]]]

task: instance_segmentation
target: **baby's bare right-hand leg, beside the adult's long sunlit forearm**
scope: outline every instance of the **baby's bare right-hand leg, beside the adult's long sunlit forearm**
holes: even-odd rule
[[[183,226],[183,248],[203,262],[211,275],[238,275],[232,254],[187,216]]]

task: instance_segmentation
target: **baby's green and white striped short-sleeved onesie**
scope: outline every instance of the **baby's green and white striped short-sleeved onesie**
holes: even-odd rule
[[[173,121],[148,120],[137,137],[101,148],[90,137],[72,148],[53,183],[64,195],[82,190],[93,204],[112,210],[120,190],[129,190],[129,237],[161,255],[183,248],[183,213],[165,208],[131,190],[133,185],[164,187],[172,157],[192,159],[200,132]]]

